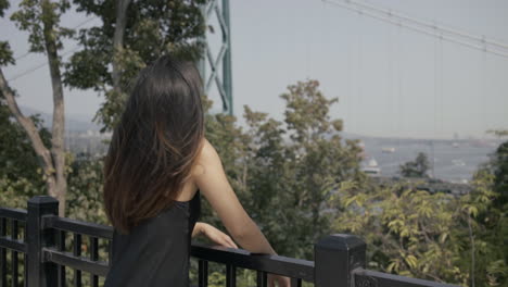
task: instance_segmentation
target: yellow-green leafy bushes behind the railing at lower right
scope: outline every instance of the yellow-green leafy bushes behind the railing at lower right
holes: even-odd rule
[[[363,237],[370,267],[419,278],[505,286],[507,217],[494,210],[494,176],[479,171],[460,197],[409,185],[359,188],[343,183],[332,201],[335,228]]]

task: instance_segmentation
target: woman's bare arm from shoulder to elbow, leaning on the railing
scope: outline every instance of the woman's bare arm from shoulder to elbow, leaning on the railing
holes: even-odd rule
[[[277,254],[238,200],[226,177],[220,158],[206,139],[198,158],[193,179],[228,233],[243,249],[255,253]]]

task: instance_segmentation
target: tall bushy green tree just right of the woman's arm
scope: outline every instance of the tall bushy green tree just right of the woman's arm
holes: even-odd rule
[[[309,242],[330,233],[327,199],[338,183],[365,178],[358,170],[360,149],[340,137],[342,122],[329,116],[336,99],[328,100],[317,80],[291,85],[281,98],[287,104],[283,123],[245,107],[245,132],[233,117],[217,114],[206,118],[206,137],[275,249],[312,259]],[[207,216],[219,224],[213,215]]]

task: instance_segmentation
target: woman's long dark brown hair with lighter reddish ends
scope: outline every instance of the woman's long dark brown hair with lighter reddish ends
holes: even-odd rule
[[[104,164],[104,208],[127,234],[168,208],[203,142],[202,83],[191,62],[163,55],[131,89]]]

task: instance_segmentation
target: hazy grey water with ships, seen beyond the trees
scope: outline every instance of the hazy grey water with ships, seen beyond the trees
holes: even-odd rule
[[[51,126],[51,116],[22,107],[25,114],[39,114],[46,127]],[[88,121],[87,121],[88,120]],[[84,116],[66,117],[65,148],[75,154],[103,157],[107,152],[111,133],[101,133],[100,126]],[[499,138],[415,139],[370,137],[342,133],[344,138],[358,139],[364,148],[363,169],[377,177],[398,177],[399,165],[414,161],[419,152],[428,155],[431,178],[448,183],[467,184],[474,171],[488,160],[503,142]],[[372,175],[372,173],[370,173]]]

